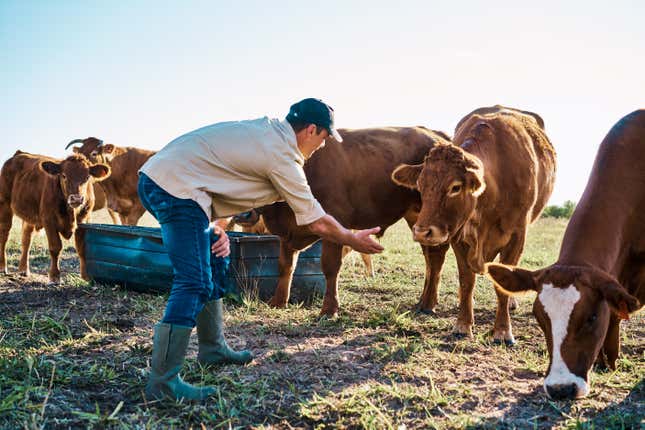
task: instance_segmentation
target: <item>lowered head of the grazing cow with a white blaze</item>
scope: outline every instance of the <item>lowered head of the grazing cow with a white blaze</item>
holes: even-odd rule
[[[603,346],[610,313],[627,319],[640,308],[638,300],[610,275],[589,267],[553,265],[529,271],[491,263],[486,268],[497,288],[506,294],[537,292],[533,314],[549,350],[544,380],[549,397],[586,396],[589,370]],[[615,363],[609,365],[614,367]]]

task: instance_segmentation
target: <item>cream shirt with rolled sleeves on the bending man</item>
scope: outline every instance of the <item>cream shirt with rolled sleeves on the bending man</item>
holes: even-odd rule
[[[311,193],[304,162],[291,125],[264,117],[184,134],[139,172],[169,194],[196,201],[211,220],[284,200],[305,225],[325,211]]]

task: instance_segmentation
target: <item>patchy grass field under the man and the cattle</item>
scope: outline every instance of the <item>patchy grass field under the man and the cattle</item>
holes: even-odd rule
[[[9,247],[14,271],[19,225]],[[538,221],[522,264],[553,262],[565,225]],[[521,297],[512,314],[518,343],[496,346],[495,294],[479,278],[475,338],[457,340],[454,257],[446,260],[437,315],[417,315],[424,265],[410,236],[402,223],[388,230],[374,278],[364,277],[358,256],[347,257],[337,319],[319,319],[320,300],[284,310],[250,298],[229,305],[229,343],[257,358],[203,369],[193,339],[185,379],[219,389],[201,405],[149,402],[142,394],[165,298],[84,282],[69,243],[63,282],[48,286],[46,240],[38,236],[34,274],[0,277],[0,427],[643,428],[642,313],[623,322],[618,369],[594,372],[588,398],[550,401],[533,295]]]

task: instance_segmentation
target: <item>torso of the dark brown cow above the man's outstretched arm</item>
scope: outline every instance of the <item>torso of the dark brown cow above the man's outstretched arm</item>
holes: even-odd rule
[[[328,139],[305,164],[312,192],[327,213],[348,228],[383,229],[400,219],[417,191],[394,184],[400,164],[421,163],[447,136],[423,127],[341,130],[343,142]]]

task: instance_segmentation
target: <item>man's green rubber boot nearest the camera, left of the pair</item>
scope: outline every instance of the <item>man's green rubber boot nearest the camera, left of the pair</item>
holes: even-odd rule
[[[150,376],[146,385],[148,398],[161,400],[204,400],[214,387],[196,387],[179,376],[188,349],[191,327],[159,323],[155,325]]]

